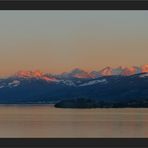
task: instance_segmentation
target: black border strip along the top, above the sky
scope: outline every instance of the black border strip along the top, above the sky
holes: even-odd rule
[[[148,1],[1,0],[0,10],[148,10]]]

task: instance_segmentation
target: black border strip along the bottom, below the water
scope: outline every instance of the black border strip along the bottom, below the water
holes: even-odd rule
[[[146,138],[1,138],[0,147],[14,148],[147,148]]]

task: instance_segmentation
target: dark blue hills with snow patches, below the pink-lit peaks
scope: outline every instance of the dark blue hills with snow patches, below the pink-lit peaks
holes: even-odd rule
[[[0,79],[0,103],[53,103],[74,98],[124,102],[148,99],[148,74],[99,78]]]

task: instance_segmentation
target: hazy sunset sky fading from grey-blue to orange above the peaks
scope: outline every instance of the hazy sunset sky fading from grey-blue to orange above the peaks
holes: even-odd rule
[[[0,11],[0,75],[148,64],[148,11]]]

